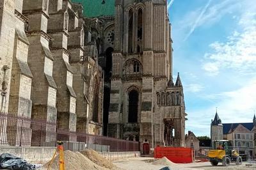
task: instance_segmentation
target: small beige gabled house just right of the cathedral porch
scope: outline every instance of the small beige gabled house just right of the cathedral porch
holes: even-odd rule
[[[199,140],[196,138],[196,135],[188,131],[188,134],[185,135],[185,141],[186,141],[186,148],[193,148],[195,155],[197,155],[198,151],[200,150],[199,147]]]

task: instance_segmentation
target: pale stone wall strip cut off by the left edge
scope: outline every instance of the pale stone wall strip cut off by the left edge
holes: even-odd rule
[[[8,112],[13,47],[15,38],[15,1],[0,1],[0,84],[1,112]]]

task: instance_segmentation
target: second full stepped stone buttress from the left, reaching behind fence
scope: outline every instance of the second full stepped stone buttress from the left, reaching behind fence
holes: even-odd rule
[[[29,19],[29,30],[27,32],[29,42],[28,63],[33,73],[33,89],[31,99],[33,100],[32,115],[35,120],[45,120],[52,125],[33,127],[32,145],[49,146],[56,142],[56,93],[57,86],[52,77],[54,58],[49,49],[51,37],[47,34],[49,20],[48,0],[30,1],[24,0],[23,13]],[[38,133],[39,129],[42,133]],[[39,140],[38,140],[39,139]]]

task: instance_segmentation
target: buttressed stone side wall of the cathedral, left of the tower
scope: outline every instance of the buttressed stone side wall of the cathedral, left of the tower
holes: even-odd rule
[[[57,123],[64,132],[102,134],[102,69],[82,14],[82,6],[68,0],[0,2],[1,112]],[[38,137],[45,146],[56,141],[47,134],[56,130],[52,126],[41,127],[44,134],[31,129],[24,139],[19,123],[3,122],[1,140],[10,145],[21,139],[29,146]]]

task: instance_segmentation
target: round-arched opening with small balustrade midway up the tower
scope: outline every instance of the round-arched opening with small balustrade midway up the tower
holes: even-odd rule
[[[124,75],[141,75],[143,73],[143,65],[138,59],[127,59],[123,65]]]

